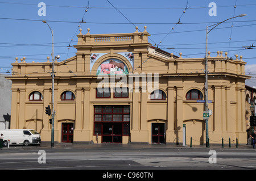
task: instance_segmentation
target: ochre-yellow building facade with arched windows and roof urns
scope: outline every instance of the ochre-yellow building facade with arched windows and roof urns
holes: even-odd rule
[[[55,95],[55,141],[205,144],[205,58],[183,58],[152,47],[149,33],[92,35],[80,29],[76,56],[52,62],[16,58],[11,79],[11,129],[31,128],[51,141],[45,108]],[[208,52],[210,143],[247,142],[242,56]]]

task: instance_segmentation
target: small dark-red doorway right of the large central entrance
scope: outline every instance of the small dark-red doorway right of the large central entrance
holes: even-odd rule
[[[152,123],[152,143],[164,144],[166,128],[164,123]]]

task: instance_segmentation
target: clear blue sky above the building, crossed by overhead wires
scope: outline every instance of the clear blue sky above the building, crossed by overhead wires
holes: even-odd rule
[[[46,16],[38,14],[40,2],[46,4]],[[211,2],[216,4],[216,16],[209,15],[213,10],[209,7]],[[47,20],[53,29],[54,53],[60,54],[59,61],[75,56],[76,49],[67,46],[77,44],[79,28],[82,33],[90,28],[91,34],[130,33],[135,26],[141,31],[147,26],[152,45],[176,55],[182,52],[184,58],[195,58],[204,57],[206,26],[247,14],[214,28],[208,34],[208,50],[212,57],[218,50],[228,52],[232,58],[242,55],[247,62],[246,73],[254,78],[256,48],[242,47],[256,45],[255,8],[254,0],[0,0],[0,72],[11,72],[15,57],[26,57],[26,62],[47,61],[51,56],[51,32],[42,20]],[[82,18],[86,23],[79,23]],[[179,19],[182,24],[176,24]]]

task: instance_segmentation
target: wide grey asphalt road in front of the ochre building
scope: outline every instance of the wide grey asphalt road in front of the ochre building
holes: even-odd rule
[[[256,149],[108,144],[0,149],[0,170],[14,169],[101,170],[97,171],[99,177],[118,176],[112,173],[122,171],[122,178],[128,178],[129,173],[151,176],[156,170],[255,170]]]

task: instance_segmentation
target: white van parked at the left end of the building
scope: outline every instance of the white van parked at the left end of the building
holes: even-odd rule
[[[0,130],[0,135],[3,134],[3,146],[8,146],[8,141],[10,145],[24,144],[28,146],[29,144],[41,143],[41,136],[38,132],[33,129],[3,129]]]

